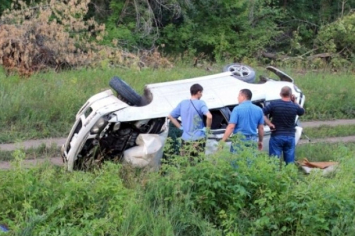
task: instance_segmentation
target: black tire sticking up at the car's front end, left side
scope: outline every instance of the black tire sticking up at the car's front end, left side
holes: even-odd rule
[[[114,76],[109,85],[117,92],[118,97],[123,98],[128,104],[134,106],[139,106],[141,104],[142,97],[122,79]]]

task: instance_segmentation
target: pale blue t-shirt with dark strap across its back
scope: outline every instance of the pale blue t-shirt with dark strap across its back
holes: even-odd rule
[[[191,103],[193,102],[193,105]],[[195,108],[194,108],[195,106]],[[198,112],[197,112],[197,111]],[[205,101],[201,100],[183,100],[172,110],[170,115],[173,118],[181,117],[184,129],[182,139],[186,141],[197,140],[205,137],[202,129],[205,127],[202,116],[208,113]]]

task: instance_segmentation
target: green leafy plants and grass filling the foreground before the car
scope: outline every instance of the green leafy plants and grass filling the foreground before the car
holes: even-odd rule
[[[237,169],[224,150],[194,166],[176,156],[155,172],[23,169],[18,151],[14,169],[0,170],[0,223],[22,236],[354,235],[354,145],[329,154],[339,168],[323,176],[248,148]]]

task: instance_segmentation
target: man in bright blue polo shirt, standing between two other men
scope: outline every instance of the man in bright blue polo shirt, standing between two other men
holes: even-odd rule
[[[242,89],[239,92],[239,105],[233,108],[222,140],[227,140],[232,133],[239,133],[244,136],[243,141],[258,142],[258,149],[262,150],[262,138],[264,136],[263,113],[259,106],[251,102],[251,97],[252,93],[249,89]],[[259,140],[257,135],[259,135]],[[232,144],[230,152],[235,152],[233,146]]]

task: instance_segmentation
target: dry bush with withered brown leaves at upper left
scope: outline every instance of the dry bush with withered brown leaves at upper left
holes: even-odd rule
[[[7,73],[17,71],[20,75],[46,69],[95,66],[103,60],[124,67],[149,66],[137,55],[99,45],[105,25],[93,18],[85,19],[89,2],[46,0],[28,6],[22,0],[14,0],[12,8],[6,10],[0,20],[0,65]],[[156,53],[148,53],[144,59],[149,55],[157,57]],[[165,60],[157,59],[156,65],[171,66]]]

